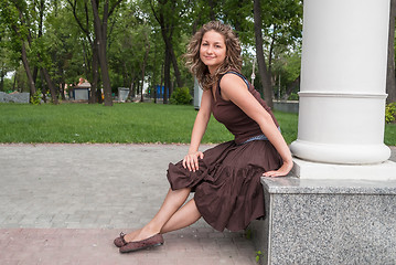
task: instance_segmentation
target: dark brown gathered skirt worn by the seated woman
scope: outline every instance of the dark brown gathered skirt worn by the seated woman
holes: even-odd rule
[[[167,176],[172,190],[191,188],[199,212],[212,227],[239,231],[265,215],[260,177],[281,163],[268,140],[227,141],[204,151],[197,171],[179,161],[169,165]]]

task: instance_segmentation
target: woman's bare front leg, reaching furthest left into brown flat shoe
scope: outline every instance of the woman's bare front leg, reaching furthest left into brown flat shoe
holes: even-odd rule
[[[160,233],[163,225],[172,218],[180,206],[183,205],[190,194],[190,188],[174,191],[169,189],[168,194],[156,216],[141,230],[127,234],[124,237],[125,241],[141,241]]]

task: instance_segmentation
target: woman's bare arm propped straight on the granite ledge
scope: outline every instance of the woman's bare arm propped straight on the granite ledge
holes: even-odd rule
[[[225,100],[232,100],[247,116],[254,119],[266,135],[268,140],[277,149],[283,160],[283,165],[274,171],[265,172],[266,177],[286,176],[292,168],[292,158],[282,135],[275,125],[269,113],[257,102],[251,93],[246,88],[245,82],[237,75],[224,75],[221,81],[222,97]],[[243,89],[242,89],[243,87]]]

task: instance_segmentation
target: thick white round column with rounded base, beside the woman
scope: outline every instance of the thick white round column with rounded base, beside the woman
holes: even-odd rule
[[[298,139],[290,146],[302,163],[374,165],[389,158],[384,145],[389,6],[304,0]]]

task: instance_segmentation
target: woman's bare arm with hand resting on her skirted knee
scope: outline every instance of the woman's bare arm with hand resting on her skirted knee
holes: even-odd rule
[[[189,153],[183,159],[183,167],[190,171],[199,169],[199,158],[203,158],[203,152],[199,151],[203,135],[205,134],[207,123],[211,118],[212,92],[202,93],[201,107],[195,117],[194,127],[191,134]]]

